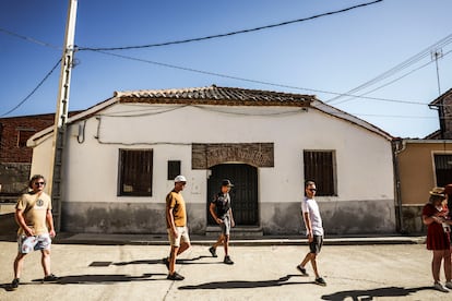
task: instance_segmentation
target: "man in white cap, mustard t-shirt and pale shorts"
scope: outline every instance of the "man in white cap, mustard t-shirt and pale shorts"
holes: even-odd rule
[[[180,193],[187,184],[183,176],[175,178],[175,188],[166,196],[166,228],[171,245],[169,257],[164,258],[168,268],[168,280],[183,280],[185,277],[176,273],[176,257],[190,248],[190,238],[187,228],[186,202]]]

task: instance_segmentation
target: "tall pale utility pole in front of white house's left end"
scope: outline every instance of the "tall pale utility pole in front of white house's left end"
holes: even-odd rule
[[[60,82],[58,88],[57,111],[55,112],[51,174],[48,180],[48,190],[51,193],[53,222],[57,231],[61,227],[61,197],[62,197],[62,167],[66,141],[66,123],[69,111],[69,91],[71,71],[75,52],[75,17],[78,0],[69,0],[68,17],[66,23],[64,45],[61,57]]]

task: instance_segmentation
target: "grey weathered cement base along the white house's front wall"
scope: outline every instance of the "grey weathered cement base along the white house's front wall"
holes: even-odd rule
[[[304,234],[298,202],[261,203],[265,236]],[[321,202],[319,207],[326,236],[381,234],[395,232],[393,201]],[[68,232],[165,234],[165,204],[64,202],[61,226]],[[187,204],[190,233],[206,234],[205,204]],[[240,226],[240,225],[238,225]]]

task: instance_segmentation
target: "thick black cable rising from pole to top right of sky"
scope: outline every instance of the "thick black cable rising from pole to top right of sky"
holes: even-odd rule
[[[218,34],[218,35],[213,35],[213,36],[205,36],[205,37],[199,37],[199,38],[189,38],[189,39],[175,40],[175,41],[166,41],[166,43],[160,43],[160,44],[148,44],[148,45],[141,45],[141,46],[102,47],[102,48],[79,47],[79,50],[109,50],[109,51],[112,51],[112,50],[128,50],[128,49],[160,47],[160,46],[168,46],[168,45],[176,45],[176,44],[186,44],[186,43],[200,41],[200,40],[206,40],[206,39],[213,39],[213,38],[222,38],[222,37],[228,37],[228,36],[234,36],[234,35],[239,35],[239,34],[247,34],[247,33],[251,33],[251,32],[258,32],[258,31],[262,31],[262,29],[269,29],[269,28],[285,26],[285,25],[289,25],[289,24],[294,24],[294,23],[306,22],[306,21],[318,19],[318,17],[322,17],[322,16],[344,13],[344,12],[355,10],[355,9],[358,9],[358,8],[372,5],[372,4],[376,4],[378,2],[382,2],[382,1],[383,0],[376,0],[373,2],[362,3],[362,4],[349,7],[349,8],[346,8],[346,9],[333,11],[333,12],[321,13],[321,14],[312,15],[312,16],[309,16],[309,17],[304,17],[304,19],[298,19],[298,20],[293,20],[293,21],[286,21],[286,22],[282,22],[282,23],[277,23],[277,24],[260,26],[260,27],[250,28],[250,29],[242,29],[242,31],[237,31],[237,32],[231,32],[231,33],[226,33],[226,34]]]

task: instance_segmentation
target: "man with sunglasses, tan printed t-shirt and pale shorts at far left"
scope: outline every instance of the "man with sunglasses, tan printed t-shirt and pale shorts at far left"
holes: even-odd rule
[[[44,176],[35,174],[29,180],[29,192],[19,198],[15,205],[15,220],[19,224],[19,252],[14,260],[14,279],[11,289],[19,287],[26,254],[40,250],[44,281],[55,281],[57,276],[50,273],[50,245],[55,237],[50,196],[44,192]]]

